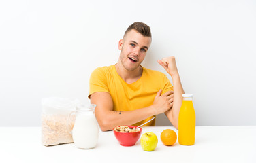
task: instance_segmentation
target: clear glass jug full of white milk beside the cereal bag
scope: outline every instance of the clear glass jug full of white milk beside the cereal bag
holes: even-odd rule
[[[95,104],[76,107],[72,137],[76,147],[80,149],[91,149],[97,145],[99,128],[94,114],[95,107]]]

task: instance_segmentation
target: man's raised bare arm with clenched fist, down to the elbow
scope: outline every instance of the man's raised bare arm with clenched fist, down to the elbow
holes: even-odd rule
[[[182,105],[182,94],[184,90],[180,82],[180,75],[178,74],[178,69],[176,66],[176,61],[174,56],[163,58],[162,60],[157,60],[160,65],[169,73],[172,77],[172,82],[174,86],[174,102],[170,110],[165,112],[170,122],[178,129],[178,114],[180,113],[180,107]]]

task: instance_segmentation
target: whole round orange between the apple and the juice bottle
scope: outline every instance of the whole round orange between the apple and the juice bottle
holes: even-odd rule
[[[161,141],[164,145],[174,145],[177,141],[177,134],[174,130],[166,129],[161,133]]]

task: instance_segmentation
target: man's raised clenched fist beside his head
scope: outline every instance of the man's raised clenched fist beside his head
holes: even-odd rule
[[[178,73],[176,66],[176,61],[174,56],[163,58],[162,60],[157,60],[157,62],[169,73],[171,76]]]

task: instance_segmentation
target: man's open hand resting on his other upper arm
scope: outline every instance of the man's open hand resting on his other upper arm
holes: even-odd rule
[[[155,115],[168,111],[174,102],[174,92],[172,90],[165,92],[165,94],[162,95],[161,92],[162,90],[157,92],[157,96],[155,96],[155,100],[152,105],[155,110]]]

